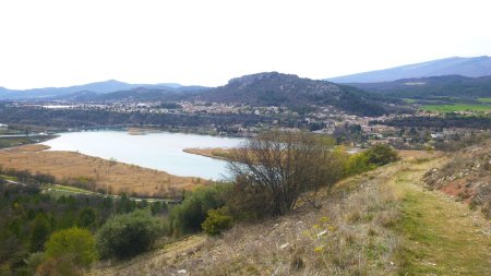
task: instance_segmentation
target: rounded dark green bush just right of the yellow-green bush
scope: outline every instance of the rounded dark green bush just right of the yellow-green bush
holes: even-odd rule
[[[97,231],[96,245],[101,257],[125,259],[149,250],[161,233],[158,218],[135,211],[109,218]]]

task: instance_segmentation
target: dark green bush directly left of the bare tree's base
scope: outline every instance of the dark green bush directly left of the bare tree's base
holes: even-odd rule
[[[169,214],[170,226],[175,236],[202,230],[209,209],[225,205],[230,184],[213,184],[196,189],[184,199],[182,204],[173,207]]]

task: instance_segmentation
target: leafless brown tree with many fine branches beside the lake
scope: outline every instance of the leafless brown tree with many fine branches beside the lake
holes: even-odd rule
[[[325,136],[274,131],[247,140],[232,152],[228,167],[244,191],[261,194],[263,212],[282,215],[302,193],[315,196],[340,178],[343,168],[333,147]]]

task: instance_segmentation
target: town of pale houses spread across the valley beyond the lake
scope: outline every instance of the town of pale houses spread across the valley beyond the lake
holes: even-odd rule
[[[489,131],[470,130],[466,128],[395,128],[384,124],[394,118],[409,116],[432,117],[438,116],[424,111],[415,115],[388,115],[381,117],[360,117],[348,115],[331,106],[306,107],[258,107],[247,104],[223,104],[206,101],[113,101],[113,103],[10,103],[16,108],[63,109],[85,111],[107,111],[116,113],[140,115],[175,115],[175,116],[254,116],[267,118],[253,125],[233,123],[221,125],[209,123],[199,128],[185,128],[185,131],[231,136],[253,136],[264,130],[280,129],[283,131],[309,130],[310,132],[331,135],[339,144],[349,146],[369,147],[374,144],[388,144],[396,148],[433,148],[435,144],[445,141],[462,140],[477,133],[487,134]],[[107,127],[107,125],[106,125]],[[159,125],[147,125],[158,128]],[[0,122],[0,130],[8,125]],[[96,130],[98,128],[93,128]],[[77,129],[68,129],[69,131]],[[88,130],[88,129],[87,129]],[[166,129],[164,129],[166,130]],[[168,130],[168,129],[167,129]],[[183,130],[182,128],[179,130]]]

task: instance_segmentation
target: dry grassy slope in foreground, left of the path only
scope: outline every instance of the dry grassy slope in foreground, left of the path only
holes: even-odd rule
[[[395,274],[399,237],[392,228],[400,212],[398,195],[382,184],[387,171],[343,182],[334,196],[321,199],[320,209],[306,205],[284,217],[237,225],[195,247],[184,243],[184,252],[164,249],[131,265],[93,274],[178,275],[182,269],[190,275]]]

